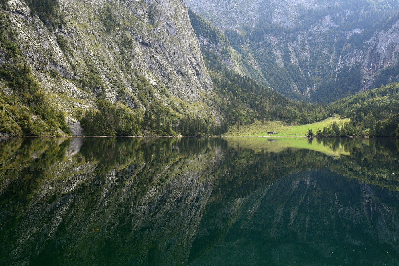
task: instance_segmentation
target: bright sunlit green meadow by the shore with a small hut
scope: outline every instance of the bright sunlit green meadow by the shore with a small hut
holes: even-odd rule
[[[225,136],[270,136],[267,135],[267,132],[274,131],[277,134],[273,134],[271,136],[274,137],[302,137],[307,135],[308,130],[312,129],[313,133],[316,134],[318,129],[323,130],[323,127],[327,127],[333,121],[336,123],[343,124],[346,121],[349,121],[349,118],[340,118],[339,115],[335,117],[329,117],[324,119],[323,121],[306,124],[306,125],[287,125],[281,121],[268,121],[265,123],[261,123],[260,120],[255,119],[255,123],[251,125],[241,125],[239,129],[234,125],[229,128],[229,131],[225,133]]]

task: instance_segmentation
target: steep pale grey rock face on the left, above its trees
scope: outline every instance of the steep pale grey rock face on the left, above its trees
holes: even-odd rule
[[[199,93],[212,91],[182,1],[65,0],[60,8],[63,20],[52,30],[22,0],[7,1],[1,10],[57,109],[74,116],[77,108],[95,109],[95,97],[142,109],[145,80],[166,106],[197,102]],[[53,70],[59,77],[50,75]]]

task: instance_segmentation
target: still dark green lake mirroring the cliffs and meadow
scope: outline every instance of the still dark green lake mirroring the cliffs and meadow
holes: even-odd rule
[[[398,149],[1,138],[0,265],[399,265]]]

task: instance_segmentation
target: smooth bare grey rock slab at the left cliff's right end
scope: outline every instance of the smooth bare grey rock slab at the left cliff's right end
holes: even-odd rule
[[[134,35],[140,42],[141,64],[175,96],[198,100],[199,91],[210,92],[212,83],[203,64],[199,43],[182,1],[144,1],[148,10],[134,4],[134,13],[144,24],[155,25],[146,34]],[[148,18],[147,18],[148,17]],[[139,52],[140,53],[140,52]],[[145,65],[144,65],[144,64]],[[143,67],[144,65],[144,67]],[[147,74],[148,75],[148,74]]]

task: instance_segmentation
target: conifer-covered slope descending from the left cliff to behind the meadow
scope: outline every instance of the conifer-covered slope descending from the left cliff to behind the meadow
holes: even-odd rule
[[[306,124],[328,116],[326,109],[321,105],[288,99],[271,87],[233,71],[223,61],[223,57],[229,56],[229,50],[232,49],[227,38],[199,15],[192,11],[189,14],[194,31],[199,37],[213,42],[215,47],[221,45],[222,53],[227,51],[219,55],[218,49],[211,48],[212,45],[201,46],[215,89],[222,97],[220,106],[229,125],[250,124],[255,118]]]

